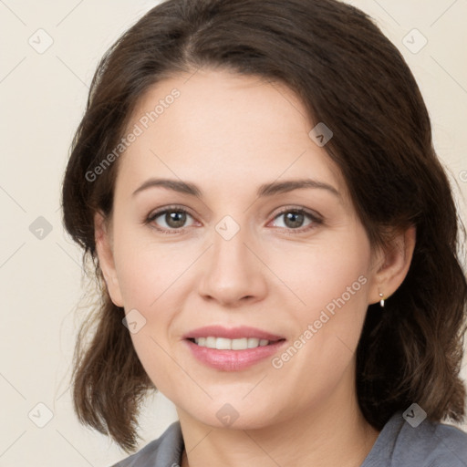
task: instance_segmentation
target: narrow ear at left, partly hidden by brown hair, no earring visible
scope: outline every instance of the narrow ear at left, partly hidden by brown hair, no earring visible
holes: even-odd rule
[[[109,222],[100,212],[94,215],[94,232],[99,266],[104,275],[104,280],[109,290],[109,296],[116,306],[123,306],[119,279],[115,269],[113,239],[109,229]]]

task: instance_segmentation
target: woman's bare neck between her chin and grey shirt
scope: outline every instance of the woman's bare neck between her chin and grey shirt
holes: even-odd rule
[[[177,409],[186,447],[181,467],[360,467],[379,431],[364,419],[355,392],[350,399],[345,392],[253,430],[214,428]]]

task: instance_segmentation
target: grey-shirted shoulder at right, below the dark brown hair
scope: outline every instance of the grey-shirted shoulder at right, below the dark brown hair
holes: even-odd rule
[[[396,412],[379,433],[362,467],[467,467],[467,433],[423,420],[412,426]]]

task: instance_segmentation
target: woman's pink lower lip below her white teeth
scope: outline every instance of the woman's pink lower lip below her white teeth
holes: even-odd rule
[[[244,350],[219,350],[198,346],[188,339],[185,339],[185,342],[192,350],[193,356],[198,358],[204,365],[222,369],[223,371],[238,371],[251,367],[255,363],[274,355],[285,344],[285,340],[280,340],[267,346],[245,348]]]

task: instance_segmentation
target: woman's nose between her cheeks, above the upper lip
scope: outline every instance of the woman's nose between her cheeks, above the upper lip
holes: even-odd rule
[[[240,229],[230,240],[213,233],[213,245],[200,265],[199,294],[205,300],[236,307],[266,295],[267,267],[261,259],[261,248],[244,231]]]

